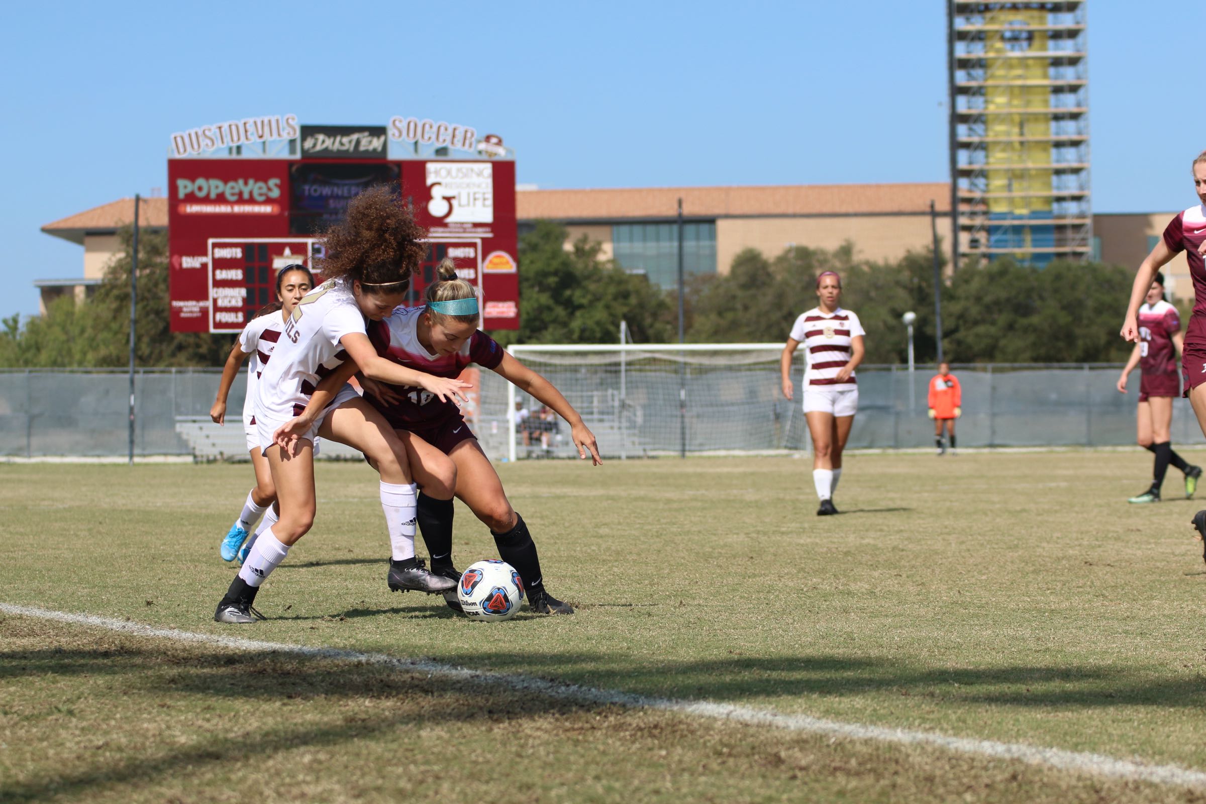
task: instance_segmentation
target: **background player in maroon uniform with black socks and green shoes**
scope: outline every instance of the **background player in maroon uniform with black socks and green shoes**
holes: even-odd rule
[[[1164,274],[1157,272],[1138,309],[1138,342],[1118,377],[1118,391],[1126,393],[1126,378],[1140,366],[1138,411],[1136,413],[1138,445],[1155,456],[1152,486],[1136,494],[1129,503],[1159,503],[1160,487],[1169,464],[1185,475],[1185,497],[1194,495],[1201,466],[1192,466],[1172,451],[1172,398],[1181,394],[1181,376],[1173,347],[1184,352],[1184,335],[1177,309],[1164,298]]]

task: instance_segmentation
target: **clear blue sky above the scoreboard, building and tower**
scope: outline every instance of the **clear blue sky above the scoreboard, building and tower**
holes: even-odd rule
[[[1195,201],[1206,4],[1089,4],[1097,212]],[[295,113],[498,133],[540,187],[946,181],[925,2],[59,2],[6,13],[0,315],[82,274],[45,223],[166,184],[172,131]],[[1170,20],[1172,23],[1170,24]]]

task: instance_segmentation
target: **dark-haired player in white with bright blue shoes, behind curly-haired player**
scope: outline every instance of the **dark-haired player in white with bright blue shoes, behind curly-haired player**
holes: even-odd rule
[[[256,432],[256,415],[252,410],[256,401],[256,383],[260,371],[268,364],[276,348],[276,341],[285,330],[285,322],[293,315],[293,309],[298,301],[314,287],[314,276],[305,265],[287,265],[276,275],[276,303],[269,305],[251,322],[244,327],[239,334],[239,340],[230,347],[227,356],[226,366],[222,369],[222,381],[218,383],[218,394],[210,407],[210,418],[218,424],[226,423],[227,397],[230,394],[230,386],[234,383],[239,368],[248,357],[247,365],[247,394],[242,401],[242,432],[247,436],[247,450],[251,452],[251,466],[256,471],[256,486],[247,492],[247,500],[242,504],[242,511],[230,526],[230,530],[222,539],[218,554],[222,561],[234,561],[239,553],[247,534],[256,527],[260,515],[265,510],[270,511],[264,516],[263,527],[271,527],[276,521],[275,512],[271,511],[273,503],[276,501],[276,487],[273,486],[273,473],[268,468],[268,459],[264,458],[259,448],[259,435]]]

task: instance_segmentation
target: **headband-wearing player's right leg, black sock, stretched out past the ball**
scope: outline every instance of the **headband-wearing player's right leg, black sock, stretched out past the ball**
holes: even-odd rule
[[[511,507],[503,481],[478,440],[457,444],[451,456],[457,468],[457,497],[490,528],[498,557],[520,574],[528,608],[538,614],[574,614],[573,606],[552,597],[545,588],[540,557],[527,523]]]

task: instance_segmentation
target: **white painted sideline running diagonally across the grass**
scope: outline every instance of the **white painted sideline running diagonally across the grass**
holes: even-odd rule
[[[1179,787],[1206,788],[1206,773],[1200,770],[1190,770],[1178,765],[1151,765],[1140,762],[1129,762],[1126,759],[1107,757],[1100,753],[1084,753],[1081,751],[1065,751],[1061,749],[1043,749],[1020,743],[976,740],[961,736],[949,736],[946,734],[935,734],[931,732],[886,728],[883,726],[843,723],[841,721],[809,717],[808,715],[781,715],[771,710],[734,706],[732,704],[718,704],[707,700],[692,702],[675,700],[673,698],[654,698],[615,689],[582,687],[562,681],[546,681],[544,679],[534,679],[525,675],[468,670],[466,668],[441,664],[439,662],[431,662],[426,659],[404,659],[388,656],[386,653],[362,653],[359,651],[349,651],[334,647],[309,647],[306,645],[263,642],[252,639],[241,639],[239,636],[197,634],[187,630],[176,630],[174,628],[153,628],[151,626],[144,626],[142,623],[98,617],[94,615],[49,611],[47,609],[17,606],[7,603],[0,603],[0,612],[22,617],[37,617],[40,620],[54,620],[58,622],[69,622],[81,626],[94,626],[98,628],[106,628],[109,630],[134,634],[136,636],[156,636],[177,642],[199,642],[203,645],[230,647],[240,651],[269,651],[312,658],[344,659],[362,662],[364,664],[379,664],[411,673],[427,673],[428,675],[470,682],[479,686],[503,687],[511,691],[529,692],[574,703],[608,704],[625,706],[627,709],[652,709],[683,715],[695,715],[697,717],[707,717],[712,720],[733,721],[750,726],[769,726],[789,732],[827,734],[835,738],[876,740],[879,743],[896,743],[901,745],[929,745],[953,751],[955,753],[967,753],[988,757],[990,759],[1015,759],[1032,765],[1046,765],[1048,768],[1058,768],[1060,770],[1075,770],[1094,776],[1125,779],[1129,781],[1146,781],[1159,785],[1176,785]]]

